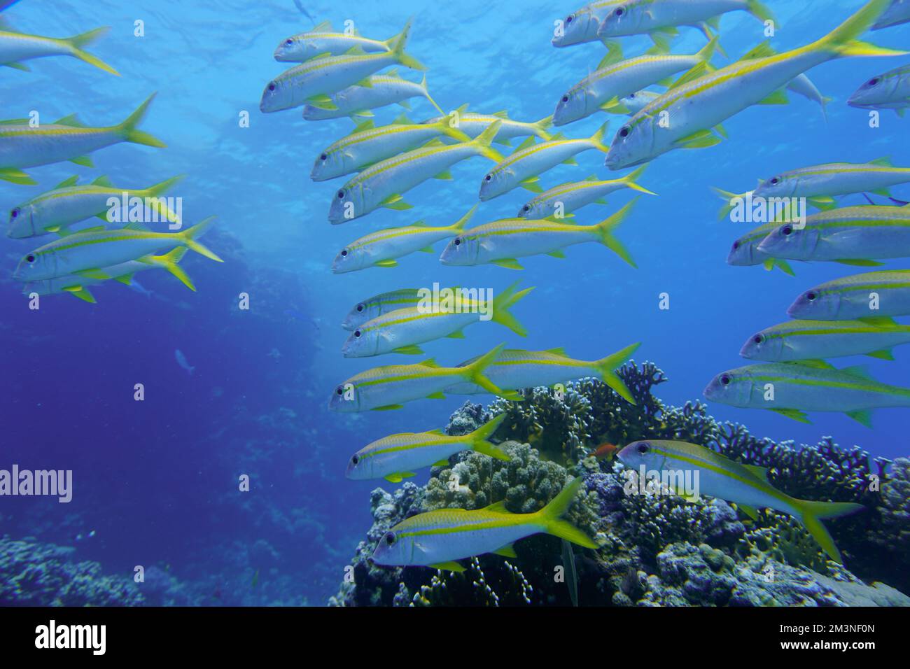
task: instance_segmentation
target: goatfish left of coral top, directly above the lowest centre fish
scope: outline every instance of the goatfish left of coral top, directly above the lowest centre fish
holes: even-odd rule
[[[385,479],[399,483],[413,476],[412,470],[448,465],[449,458],[461,451],[475,451],[496,460],[510,461],[504,451],[487,441],[505,418],[501,413],[486,425],[460,436],[450,436],[441,430],[390,434],[354,453],[348,461],[345,476],[355,481]]]

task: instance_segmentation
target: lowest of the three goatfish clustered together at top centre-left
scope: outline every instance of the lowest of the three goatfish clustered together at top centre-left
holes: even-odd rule
[[[410,109],[408,100],[411,97],[425,97],[430,105],[435,106],[440,114],[442,110],[436,101],[430,97],[427,89],[427,76],[418,84],[414,81],[402,79],[395,70],[389,70],[384,75],[369,77],[369,86],[348,86],[337,93],[329,94],[329,103],[323,106],[306,105],[303,107],[303,117],[307,121],[322,121],[328,118],[351,117],[355,121],[358,117],[372,117],[370,109],[380,106],[400,105]],[[329,106],[330,108],[325,108]]]

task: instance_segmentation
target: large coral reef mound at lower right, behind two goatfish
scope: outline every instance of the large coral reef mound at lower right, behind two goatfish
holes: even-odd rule
[[[564,566],[561,542],[549,535],[517,542],[517,558],[471,558],[464,573],[381,568],[369,555],[389,527],[416,513],[500,501],[511,512],[535,512],[582,474],[585,493],[567,519],[600,548],[575,547],[580,605],[910,605],[902,594],[910,592],[910,460],[873,461],[830,438],[801,447],[756,438],[714,421],[701,402],[664,406],[652,388],[666,378],[651,363],[630,362],[618,373],[634,405],[592,379],[560,392],[525,390],[526,401],[494,400],[487,409],[465,402],[447,431],[463,434],[505,413],[496,438],[511,461],[464,451],[432,468],[423,487],[375,490],[373,526],[330,603],[571,605],[570,587],[554,578]],[[604,441],[644,437],[691,441],[766,467],[769,481],[794,497],[864,504],[866,512],[828,523],[849,571],[788,515],[764,510],[752,520],[720,499],[628,494],[622,465],[591,457]]]

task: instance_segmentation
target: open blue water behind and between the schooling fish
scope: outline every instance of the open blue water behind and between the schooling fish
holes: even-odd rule
[[[398,33],[413,15],[409,51],[429,67],[430,91],[445,109],[470,102],[475,111],[508,109],[512,118],[538,120],[603,53],[596,43],[550,46],[553,21],[575,9],[571,3],[303,2],[318,20],[342,25],[353,19],[364,35],[380,39]],[[773,46],[785,50],[829,32],[859,3],[769,5],[782,25]],[[642,197],[617,233],[639,269],[598,245],[580,245],[564,260],[526,258],[523,272],[443,267],[418,253],[401,259],[398,269],[333,276],[339,249],[368,231],[460,218],[477,202],[488,161],[465,161],[452,169],[452,181],[414,189],[409,211],[383,209],[332,227],[329,203],[343,180],[319,184],[308,175],[319,152],[350,132],[350,120],[310,123],[299,109],[258,111],[263,86],[285,69],[272,59],[275,46],[312,25],[291,0],[59,2],[53,10],[24,0],[4,14],[15,28],[39,35],[112,25],[89,50],[122,76],[62,57],[32,61],[31,73],[4,68],[0,117],[38,110],[49,121],[78,112],[89,125],[113,124],[157,91],[142,128],[168,146],[106,148],[94,155],[94,169],[31,168],[40,186],[0,182],[2,208],[72,174],[83,181],[106,174],[130,187],[187,174],[171,194],[184,198],[189,222],[217,216],[217,230],[205,241],[226,262],[187,255],[184,266],[197,293],[164,272],[146,272],[139,282],[151,296],[114,283],[93,289],[96,305],[57,296],[33,311],[9,277],[18,258],[38,244],[0,242],[0,467],[72,469],[75,480],[69,504],[0,500],[0,534],[76,546],[80,559],[96,560],[110,573],[129,576],[137,564],[157,565],[186,583],[193,603],[324,603],[369,527],[369,492],[377,487],[376,481],[344,479],[350,454],[392,432],[444,427],[465,399],[329,413],[329,393],[340,381],[390,360],[341,357],[348,333],[339,322],[359,299],[435,281],[500,290],[521,279],[537,287],[514,309],[530,332],[526,340],[482,324],[468,329],[465,340],[427,344],[428,354],[455,364],[508,342],[532,350],[561,346],[590,360],[641,341],[635,360],[654,361],[670,379],[658,389],[662,400],[703,400],[713,375],[743,364],[743,341],[786,319],[800,291],[854,273],[796,263],[793,278],[728,266],[730,244],[752,226],[718,221],[721,202],[709,187],[742,192],[757,177],[832,161],[891,156],[896,165],[910,165],[907,119],[883,112],[882,127],[871,129],[866,112],[844,104],[864,80],[908,59],[847,58],[809,73],[834,97],[827,123],[817,105],[792,96],[788,106],[757,106],[726,121],[730,139],[718,147],[674,151],[648,167],[642,185],[660,197]],[[145,23],[144,37],[133,34],[136,20]],[[726,15],[722,25],[730,56],[762,41],[762,26],[749,15]],[[899,48],[908,43],[910,25],[871,35],[876,44]],[[703,43],[703,35],[683,29],[674,52],[693,53]],[[650,40],[629,38],[623,46],[634,55]],[[415,120],[436,115],[425,100],[412,104]],[[249,127],[238,124],[244,111]],[[398,106],[379,109],[377,125],[399,112]],[[570,137],[589,137],[605,118],[564,129]],[[612,131],[621,123],[612,117]],[[608,176],[597,152],[578,160],[579,167],[543,175],[543,187],[594,173],[616,176]],[[894,194],[910,199],[910,188]],[[582,209],[579,220],[606,218],[631,197],[621,193],[609,207]],[[530,198],[513,190],[482,204],[475,221],[511,217]],[[885,267],[903,269],[906,262]],[[244,292],[248,310],[238,309]],[[669,310],[658,309],[662,292],[670,294]],[[192,375],[177,364],[177,349],[196,368]],[[898,349],[897,361],[868,364],[876,379],[910,385],[907,360],[910,353]],[[136,383],[145,384],[143,402],[133,400]],[[831,435],[885,457],[905,454],[910,416],[876,411],[869,430],[834,413],[814,414],[806,425],[769,411],[717,404],[709,411],[774,440],[814,443]],[[238,492],[241,474],[250,476],[250,492]],[[416,481],[426,476],[422,471]]]

